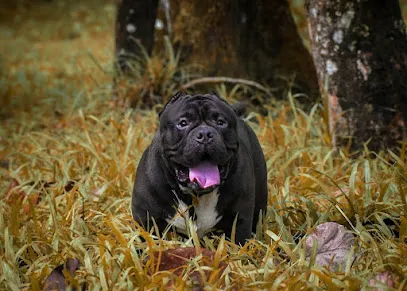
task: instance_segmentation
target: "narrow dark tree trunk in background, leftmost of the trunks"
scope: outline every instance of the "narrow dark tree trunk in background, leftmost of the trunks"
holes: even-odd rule
[[[158,0],[117,0],[116,59],[122,71],[128,62],[142,57],[141,47],[151,54]]]

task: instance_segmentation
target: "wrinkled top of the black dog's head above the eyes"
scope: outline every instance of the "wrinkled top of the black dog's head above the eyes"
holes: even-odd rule
[[[234,114],[233,108],[221,97],[215,93],[204,94],[204,95],[187,95],[184,92],[178,92],[175,94],[168,103],[164,106],[163,110],[160,112],[159,116],[170,114],[171,112],[180,112],[185,109],[188,104],[198,104],[202,105],[207,102],[213,102],[217,104],[217,107]]]

